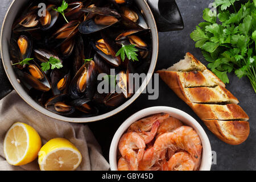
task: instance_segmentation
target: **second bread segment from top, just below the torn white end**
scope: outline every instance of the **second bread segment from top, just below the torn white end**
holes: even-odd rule
[[[198,86],[208,86],[214,87],[217,85],[221,85],[225,87],[224,82],[220,80],[216,75],[214,75],[208,69],[205,69],[203,72],[200,71],[192,71],[192,72],[174,72],[167,71],[166,69],[157,71],[159,73],[160,78],[166,84],[172,87],[198,87]]]

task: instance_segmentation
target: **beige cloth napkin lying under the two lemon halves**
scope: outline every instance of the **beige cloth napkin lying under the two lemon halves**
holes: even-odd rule
[[[39,170],[37,159],[24,166],[11,166],[5,160],[3,140],[7,130],[15,122],[23,122],[38,131],[42,146],[53,138],[66,138],[79,149],[82,162],[77,170],[105,171],[109,164],[101,154],[101,147],[97,143],[89,127],[83,124],[58,121],[39,113],[13,91],[0,104],[0,170]]]

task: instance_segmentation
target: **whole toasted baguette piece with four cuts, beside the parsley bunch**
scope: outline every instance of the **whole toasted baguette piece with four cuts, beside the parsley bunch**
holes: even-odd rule
[[[191,53],[157,73],[218,138],[229,144],[246,140],[250,132],[248,115],[225,84]]]

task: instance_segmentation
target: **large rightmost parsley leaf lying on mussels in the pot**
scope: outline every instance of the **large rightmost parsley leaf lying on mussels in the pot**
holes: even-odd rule
[[[117,52],[117,54],[115,56],[121,55],[122,61],[125,61],[125,55],[127,56],[127,58],[129,60],[139,61],[138,57],[137,57],[138,55],[136,53],[137,51],[138,51],[138,49],[135,48],[135,45],[127,45],[127,46],[125,46],[125,45],[122,44],[122,48],[119,49],[119,51]]]

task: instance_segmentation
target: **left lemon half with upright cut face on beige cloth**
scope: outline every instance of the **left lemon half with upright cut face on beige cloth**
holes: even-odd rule
[[[16,122],[5,135],[3,151],[9,164],[21,166],[35,160],[41,146],[41,138],[34,128]]]

